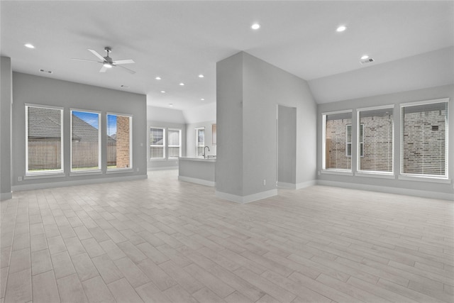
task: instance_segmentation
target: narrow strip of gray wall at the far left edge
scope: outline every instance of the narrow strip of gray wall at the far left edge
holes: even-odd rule
[[[11,199],[11,58],[0,62],[0,200]]]

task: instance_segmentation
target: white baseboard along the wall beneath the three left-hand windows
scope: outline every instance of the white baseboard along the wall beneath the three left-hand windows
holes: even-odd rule
[[[45,189],[45,188],[52,188],[52,187],[67,187],[67,186],[77,186],[77,185],[86,185],[86,184],[108,183],[108,182],[125,182],[125,181],[134,181],[134,180],[143,180],[143,179],[147,179],[147,178],[148,178],[147,175],[138,175],[138,176],[127,176],[127,177],[86,179],[86,180],[76,180],[76,181],[23,184],[23,185],[15,185],[15,186],[11,187],[11,189],[13,190],[13,192],[19,192],[21,190]]]

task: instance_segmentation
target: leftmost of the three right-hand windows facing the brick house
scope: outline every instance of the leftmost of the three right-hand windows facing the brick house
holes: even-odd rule
[[[351,111],[323,114],[323,170],[352,169],[351,124]]]

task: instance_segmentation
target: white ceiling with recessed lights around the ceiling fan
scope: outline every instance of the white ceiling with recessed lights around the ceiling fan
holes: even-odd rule
[[[454,1],[0,3],[0,53],[11,57],[14,71],[113,89],[126,85],[128,92],[147,94],[149,105],[182,110],[216,102],[216,62],[242,50],[320,84],[454,45]],[[258,31],[250,28],[254,22],[262,26]],[[337,33],[339,25],[347,31]],[[87,48],[104,55],[105,46],[114,60],[133,59],[125,66],[135,75],[118,67],[99,73],[99,64],[71,60],[96,60]],[[375,62],[360,65],[364,54]],[[320,103],[347,97],[342,89],[331,93],[336,100],[314,96]]]

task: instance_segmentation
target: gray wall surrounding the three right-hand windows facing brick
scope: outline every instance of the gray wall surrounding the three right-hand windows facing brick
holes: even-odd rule
[[[400,105],[401,103],[407,103],[411,101],[424,101],[431,99],[441,99],[449,97],[449,158],[448,158],[448,173],[450,178],[450,184],[440,184],[434,182],[423,182],[423,181],[412,181],[412,180],[398,180],[399,165],[400,165]],[[338,101],[328,104],[319,104],[318,106],[318,122],[317,122],[317,151],[320,157],[317,159],[317,170],[320,172],[322,167],[322,113],[328,111],[341,111],[346,109],[353,109],[353,125],[357,123],[356,109],[394,104],[394,175],[393,179],[380,179],[376,177],[360,177],[360,176],[348,176],[348,175],[330,175],[321,173],[319,180],[327,182],[326,184],[344,184],[345,187],[356,187],[364,189],[380,189],[379,187],[386,187],[384,191],[391,191],[389,189],[399,189],[401,193],[405,193],[405,189],[408,189],[408,193],[411,191],[417,192],[417,195],[424,195],[427,197],[453,197],[454,199],[454,188],[453,188],[453,174],[454,174],[454,85],[445,85],[441,87],[431,87],[426,89],[417,89],[409,92],[399,92],[394,94],[384,94],[375,97],[366,97],[360,99],[351,99],[345,101]],[[356,138],[357,129],[352,128],[352,138]],[[356,143],[353,142],[352,153],[354,158],[357,153]],[[357,169],[356,161],[352,163],[352,170],[355,172]],[[330,183],[331,182],[331,183]],[[335,182],[335,183],[333,183]],[[339,182],[339,183],[338,183]],[[426,194],[423,194],[426,192]],[[416,193],[416,192],[415,192]],[[441,195],[439,195],[441,194]]]

